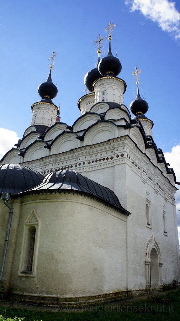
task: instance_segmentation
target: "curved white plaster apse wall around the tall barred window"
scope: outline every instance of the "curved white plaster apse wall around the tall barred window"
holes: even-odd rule
[[[37,268],[35,276],[18,276],[24,223],[33,207],[41,224]],[[124,290],[126,216],[84,195],[25,197],[15,257],[14,292],[65,297]]]

